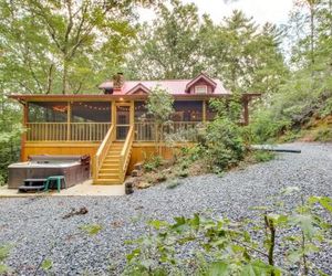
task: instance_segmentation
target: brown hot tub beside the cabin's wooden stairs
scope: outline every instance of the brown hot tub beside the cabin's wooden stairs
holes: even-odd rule
[[[8,188],[18,189],[24,179],[64,176],[66,188],[90,179],[89,156],[29,156],[29,161],[8,167]]]

